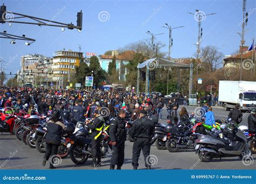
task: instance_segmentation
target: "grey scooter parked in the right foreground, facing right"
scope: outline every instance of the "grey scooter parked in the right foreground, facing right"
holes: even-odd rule
[[[196,142],[196,154],[203,162],[210,162],[213,158],[239,156],[250,156],[251,150],[248,146],[246,135],[229,121],[221,125],[223,138],[202,137]]]

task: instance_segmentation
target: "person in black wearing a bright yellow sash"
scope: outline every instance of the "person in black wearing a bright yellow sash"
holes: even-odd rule
[[[93,113],[95,119],[90,122],[87,121],[86,125],[90,128],[92,134],[92,161],[93,161],[93,167],[99,167],[100,166],[100,159],[102,157],[101,151],[100,151],[100,139],[98,138],[100,131],[102,131],[104,126],[104,118],[102,115],[100,115],[100,112],[98,109],[96,109]],[[96,162],[97,159],[97,162]]]

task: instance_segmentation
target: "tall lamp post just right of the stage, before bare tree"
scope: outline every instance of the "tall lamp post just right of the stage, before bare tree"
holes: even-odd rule
[[[187,12],[190,13],[190,12]],[[215,15],[217,13],[210,13],[206,14],[203,11],[196,10],[196,13],[190,13],[191,15],[194,15],[194,17],[197,17],[198,21],[198,38],[197,38],[197,83],[196,83],[196,97],[197,97],[197,87],[198,87],[198,62],[199,62],[199,53],[200,53],[200,42],[201,38],[203,36],[203,29],[201,28],[201,21],[202,18],[208,16],[208,15]]]

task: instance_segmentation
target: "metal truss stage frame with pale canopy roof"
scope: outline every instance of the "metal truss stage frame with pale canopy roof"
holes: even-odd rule
[[[152,59],[147,59],[145,62],[142,64],[138,65],[138,76],[137,76],[137,94],[139,93],[139,80],[140,80],[140,69],[146,67],[146,87],[145,87],[145,93],[149,93],[149,85],[150,85],[150,80],[149,80],[149,71],[154,70],[157,68],[162,68],[165,67],[167,69],[170,69],[172,67],[177,67],[178,73],[181,68],[185,69],[190,69],[190,83],[189,83],[189,98],[191,98],[192,94],[192,78],[193,78],[193,63],[190,65],[183,64],[183,63],[177,63],[173,62],[170,60],[162,59],[162,58],[152,58]],[[179,77],[178,77],[179,78]],[[179,80],[179,79],[178,79]]]

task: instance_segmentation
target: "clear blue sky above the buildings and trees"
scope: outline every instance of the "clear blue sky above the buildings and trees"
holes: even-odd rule
[[[156,36],[156,40],[165,43],[161,51],[168,52],[169,31],[162,28],[165,23],[172,28],[185,26],[172,31],[171,57],[193,57],[196,52],[198,22],[187,12],[195,13],[196,9],[205,15],[217,13],[206,16],[201,22],[202,47],[213,45],[229,55],[239,49],[241,39],[237,33],[242,29],[242,0],[0,0],[0,3],[4,3],[8,11],[62,23],[76,24],[77,12],[83,11],[82,32],[76,29],[62,31],[52,26],[0,24],[0,32],[5,30],[12,35],[26,35],[36,39],[35,43],[27,46],[23,40],[10,44],[11,40],[0,38],[0,60],[5,60],[5,73],[16,73],[21,68],[21,56],[24,54],[39,53],[52,57],[55,51],[63,48],[79,51],[78,45],[82,52],[104,54],[105,51],[150,38],[146,31],[165,33]],[[250,46],[252,39],[256,38],[256,1],[247,0],[246,11],[249,17],[245,27],[245,45]],[[15,20],[33,22],[30,19]]]

